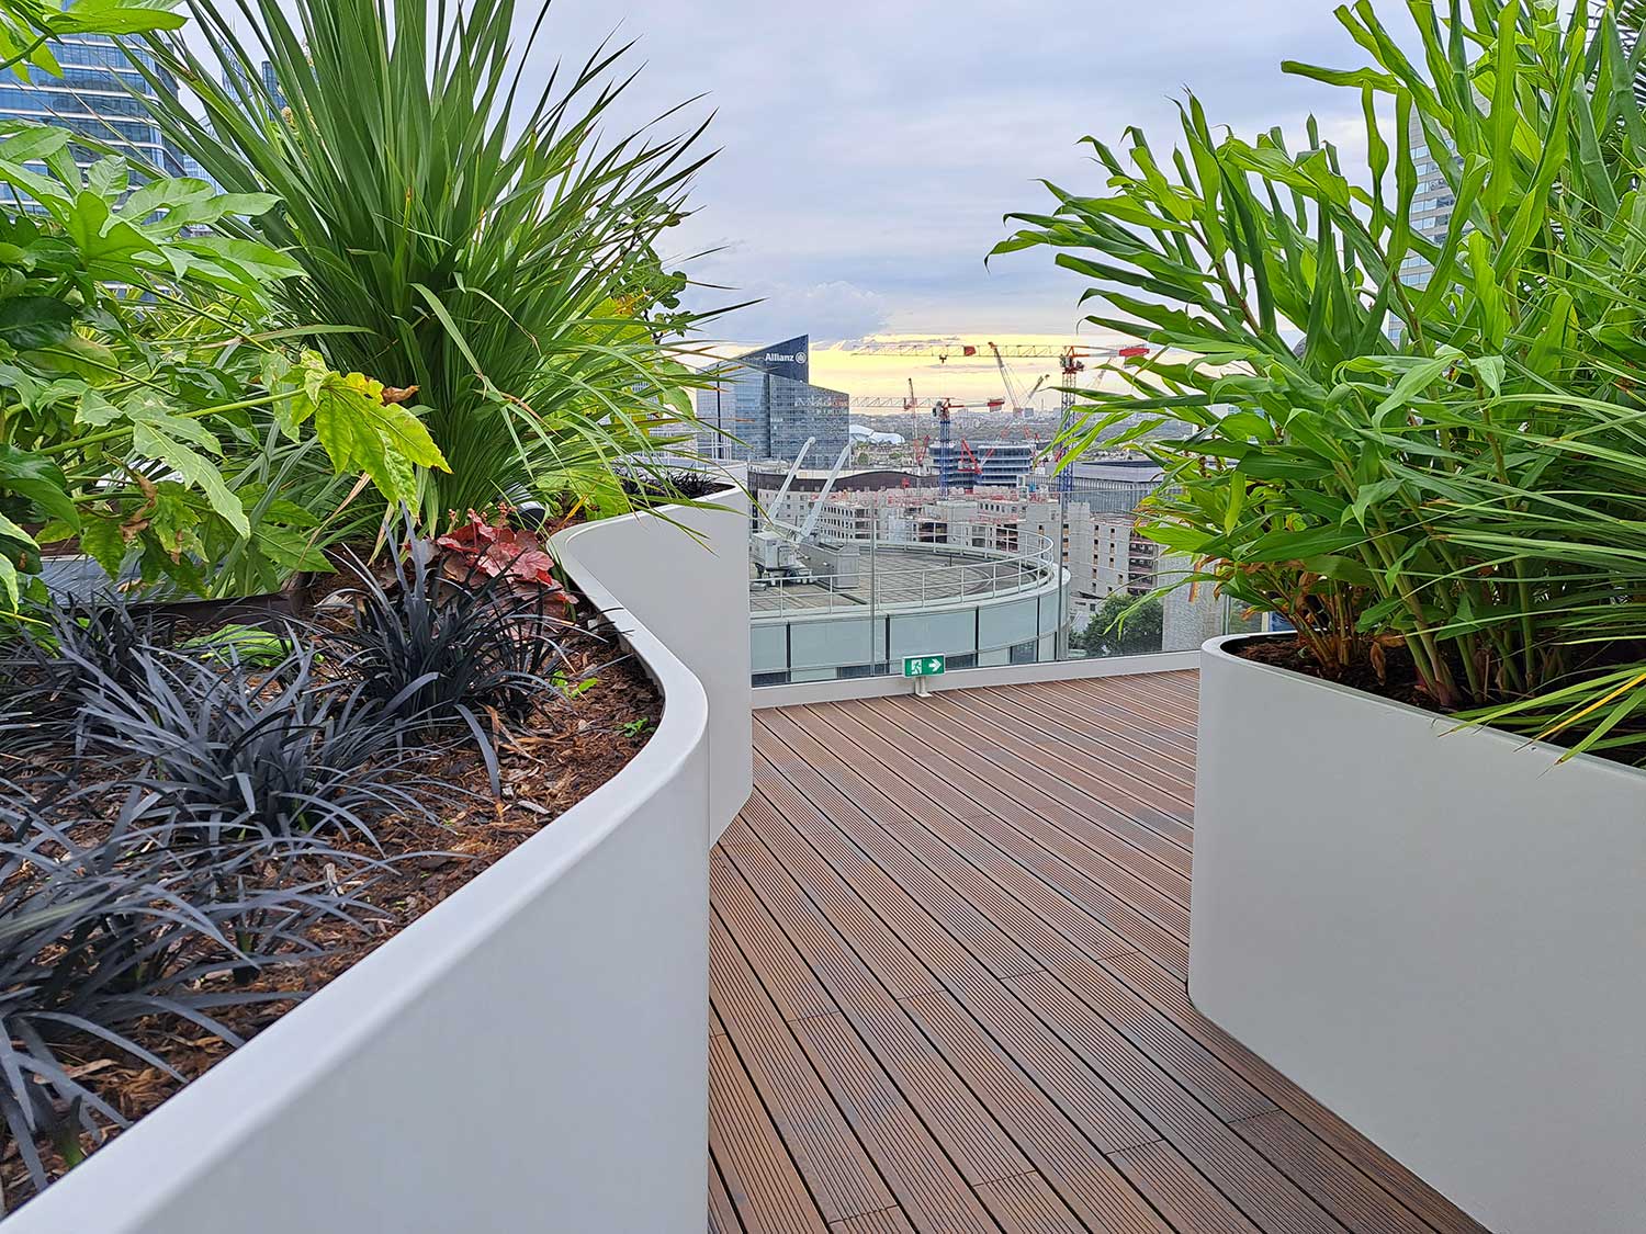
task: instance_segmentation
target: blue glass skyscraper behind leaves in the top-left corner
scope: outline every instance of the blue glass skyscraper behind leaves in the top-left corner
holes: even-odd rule
[[[142,61],[161,89],[176,95],[176,82],[155,58],[137,46],[122,48],[107,35],[67,35],[51,44],[63,76],[33,69],[31,81],[0,77],[0,120],[48,123],[102,141],[137,166],[151,166],[168,176],[188,173],[183,153],[160,132],[140,95],[155,90],[133,66]],[[95,158],[79,150],[81,163]],[[0,189],[0,193],[7,193]]]

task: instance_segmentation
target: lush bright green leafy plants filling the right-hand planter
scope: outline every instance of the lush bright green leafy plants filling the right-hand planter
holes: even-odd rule
[[[1057,248],[1090,321],[1151,344],[1068,444],[1160,462],[1146,530],[1185,582],[1284,615],[1328,676],[1643,760],[1643,49],[1587,3],[1407,7],[1416,61],[1360,0],[1369,64],[1286,64],[1360,95],[1365,178],[1314,120],[1294,151],[1190,97],[1169,161],[1088,138],[1109,193],[1049,186],[996,252]],[[1455,197],[1439,242],[1422,183]]]

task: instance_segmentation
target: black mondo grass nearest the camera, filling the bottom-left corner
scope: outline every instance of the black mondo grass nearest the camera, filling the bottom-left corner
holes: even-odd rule
[[[384,862],[318,839],[226,841],[211,864],[191,861],[138,811],[86,819],[8,801],[0,839],[0,1129],[28,1183],[51,1181],[43,1147],[66,1167],[127,1119],[87,1083],[87,1055],[120,1056],[184,1078],[137,1038],[166,1015],[242,1045],[221,1015],[293,1002],[258,990],[272,967],[326,954],[314,928],[364,930],[364,900]],[[0,1196],[0,1211],[13,1198]]]

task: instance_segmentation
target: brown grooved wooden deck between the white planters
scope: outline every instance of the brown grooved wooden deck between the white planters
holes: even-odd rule
[[[1190,1007],[1195,680],[756,714],[709,1231],[1481,1227]]]

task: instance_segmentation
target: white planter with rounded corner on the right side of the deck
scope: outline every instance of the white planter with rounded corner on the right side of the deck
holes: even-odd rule
[[[1207,643],[1195,1005],[1496,1234],[1646,1227],[1646,773]]]

